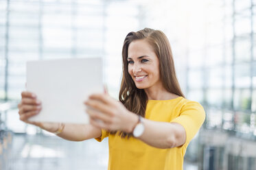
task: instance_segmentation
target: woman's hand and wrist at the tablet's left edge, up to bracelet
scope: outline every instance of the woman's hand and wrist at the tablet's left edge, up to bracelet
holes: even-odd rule
[[[47,130],[48,132],[56,132],[58,130],[60,123],[42,123],[28,120],[30,117],[39,114],[40,110],[42,109],[41,102],[36,99],[35,94],[28,91],[23,91],[21,93],[21,102],[18,104],[18,108],[19,118],[21,121],[36,125],[43,130]]]

